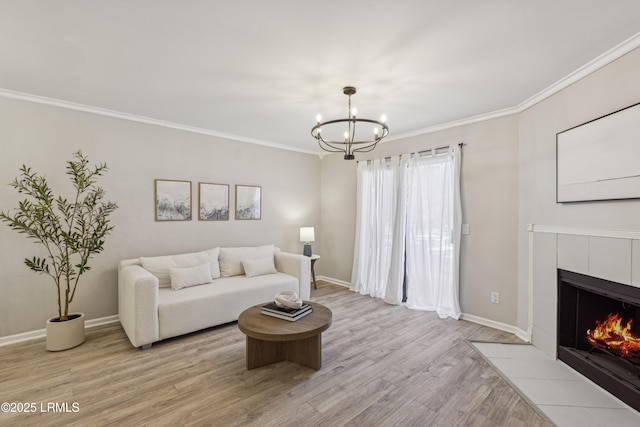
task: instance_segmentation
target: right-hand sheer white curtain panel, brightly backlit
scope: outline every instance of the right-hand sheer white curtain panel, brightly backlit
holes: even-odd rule
[[[407,307],[454,319],[460,318],[459,150],[411,158],[406,209]]]

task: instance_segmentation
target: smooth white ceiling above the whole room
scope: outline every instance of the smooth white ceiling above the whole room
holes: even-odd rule
[[[514,108],[640,31],[638,0],[0,0],[0,95],[320,152]]]

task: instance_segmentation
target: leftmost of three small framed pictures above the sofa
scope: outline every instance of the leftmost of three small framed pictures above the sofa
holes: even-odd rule
[[[156,179],[156,221],[191,221],[191,181]]]

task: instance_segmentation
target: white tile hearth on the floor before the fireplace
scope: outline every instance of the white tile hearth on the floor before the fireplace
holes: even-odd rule
[[[640,426],[640,412],[532,345],[471,344],[559,427]]]

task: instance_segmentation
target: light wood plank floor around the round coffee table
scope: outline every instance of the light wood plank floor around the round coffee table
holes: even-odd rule
[[[290,362],[247,371],[236,323],[144,351],[120,325],[97,327],[64,352],[44,340],[0,347],[0,402],[37,405],[0,413],[0,425],[552,425],[467,342],[514,336],[318,285],[312,300],[333,311],[319,371]],[[48,402],[71,412],[42,412]]]

